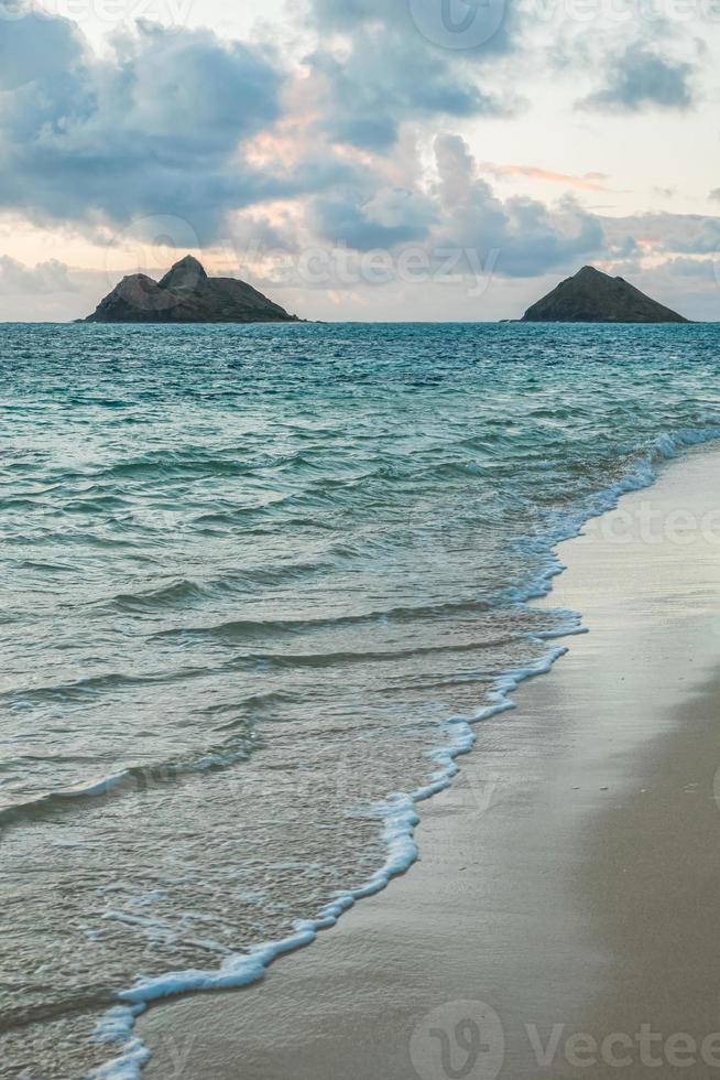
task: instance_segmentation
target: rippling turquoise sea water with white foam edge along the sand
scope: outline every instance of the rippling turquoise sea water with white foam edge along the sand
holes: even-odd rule
[[[720,428],[719,343],[0,327],[3,1076],[411,861],[400,796],[568,626],[553,544]]]

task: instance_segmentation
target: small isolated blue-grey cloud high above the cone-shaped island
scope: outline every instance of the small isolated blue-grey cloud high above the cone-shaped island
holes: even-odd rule
[[[634,42],[620,56],[610,60],[606,86],[580,105],[610,112],[687,109],[694,102],[694,73],[691,64],[668,58],[642,42]]]

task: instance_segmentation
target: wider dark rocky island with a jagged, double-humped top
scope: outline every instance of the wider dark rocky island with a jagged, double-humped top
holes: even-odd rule
[[[87,323],[296,323],[280,304],[237,278],[208,278],[188,255],[161,281],[133,273],[116,285]]]

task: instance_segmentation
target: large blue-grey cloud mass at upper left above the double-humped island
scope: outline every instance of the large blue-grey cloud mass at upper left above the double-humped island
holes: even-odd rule
[[[141,23],[98,57],[66,20],[8,25],[36,48],[0,95],[0,207],[35,222],[172,213],[214,235],[228,208],[287,186],[242,158],[281,110],[283,76],[264,51]]]

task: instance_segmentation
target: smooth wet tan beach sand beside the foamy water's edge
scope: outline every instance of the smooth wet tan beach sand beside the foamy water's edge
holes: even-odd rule
[[[262,983],[150,1009],[144,1074],[720,1076],[718,507],[706,449],[563,544],[547,603],[590,633],[478,728],[419,862]]]

